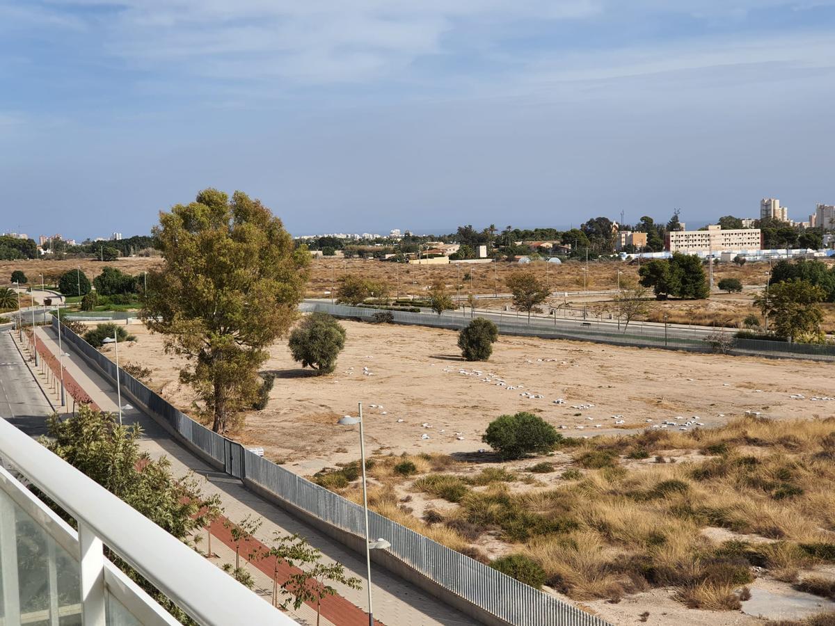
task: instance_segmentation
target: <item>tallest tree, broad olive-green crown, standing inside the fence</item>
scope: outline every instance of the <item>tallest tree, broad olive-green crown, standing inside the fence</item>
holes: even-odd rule
[[[296,319],[310,254],[240,191],[231,200],[201,191],[161,213],[154,235],[164,265],[148,275],[140,316],[166,337],[166,350],[185,356],[180,381],[198,392],[212,429],[225,432],[257,396],[266,348]]]

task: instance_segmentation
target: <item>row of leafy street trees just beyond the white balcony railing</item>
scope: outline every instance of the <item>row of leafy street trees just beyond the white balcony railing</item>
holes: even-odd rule
[[[64,461],[92,478],[145,517],[174,535],[183,543],[200,547],[202,529],[209,529],[207,557],[211,554],[210,528],[222,517],[220,497],[207,496],[193,474],[176,478],[165,457],[154,459],[140,452],[139,425],[119,426],[111,413],[94,411],[87,405],[61,421],[53,415],[47,421],[46,437],[41,443]],[[66,515],[54,507],[60,515]],[[273,560],[273,597],[275,606],[300,608],[302,603],[316,603],[316,623],[321,613],[321,599],[337,593],[333,583],[360,588],[359,578],[349,576],[341,563],[324,563],[322,554],[299,535],[274,533],[271,541],[255,540],[261,520],[245,517],[240,523],[223,520],[235,544],[235,565],[224,569],[236,580],[252,588],[253,578],[246,564],[265,559]],[[116,565],[127,573],[157,602],[184,624],[195,624],[179,607],[143,578],[127,562],[107,546],[105,552]],[[244,563],[241,551],[244,550]],[[279,568],[286,564],[293,571],[279,582]]]

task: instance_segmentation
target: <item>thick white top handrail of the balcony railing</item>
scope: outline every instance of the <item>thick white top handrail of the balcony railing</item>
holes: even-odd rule
[[[296,624],[3,418],[0,457],[198,623]]]

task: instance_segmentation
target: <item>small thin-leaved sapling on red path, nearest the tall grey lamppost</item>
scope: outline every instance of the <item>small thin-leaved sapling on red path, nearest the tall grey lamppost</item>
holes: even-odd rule
[[[321,563],[321,552],[306,542],[292,548],[291,561],[301,571],[291,573],[281,587],[290,594],[293,608],[298,609],[306,602],[316,603],[316,626],[320,623],[321,598],[337,594],[330,583],[362,588],[362,581],[348,576],[342,563]]]

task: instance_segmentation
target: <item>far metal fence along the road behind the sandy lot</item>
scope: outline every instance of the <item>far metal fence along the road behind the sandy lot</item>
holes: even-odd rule
[[[434,313],[412,313],[402,310],[380,310],[370,307],[331,305],[326,302],[306,302],[301,305],[303,311],[321,311],[332,316],[372,320],[376,313],[392,314],[394,323],[412,326],[433,326],[458,330],[467,326],[470,316]],[[498,319],[497,317],[498,316]],[[740,356],[770,356],[792,359],[812,359],[814,361],[835,361],[835,346],[788,343],[787,341],[766,341],[759,339],[737,339],[736,331],[731,329],[716,329],[715,332],[704,330],[681,329],[681,327],[650,326],[631,324],[624,329],[610,323],[600,324],[596,321],[562,321],[554,320],[554,326],[543,318],[534,318],[528,324],[525,316],[515,316],[513,313],[499,314],[498,311],[490,317],[503,335],[519,335],[543,337],[545,339],[568,339],[574,341],[595,341],[609,343],[616,346],[634,346],[667,348],[671,350],[686,350],[693,352],[712,352],[713,346],[706,341],[708,335],[724,334],[728,342],[727,353]]]

